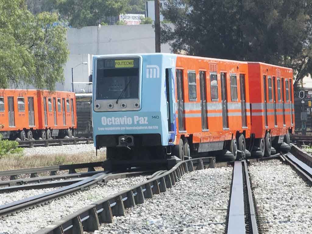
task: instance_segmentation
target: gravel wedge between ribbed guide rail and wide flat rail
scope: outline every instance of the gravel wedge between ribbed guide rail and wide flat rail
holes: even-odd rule
[[[94,233],[224,233],[232,167],[190,172]]]

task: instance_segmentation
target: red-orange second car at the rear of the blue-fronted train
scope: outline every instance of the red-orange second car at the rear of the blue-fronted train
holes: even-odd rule
[[[295,129],[292,69],[248,62],[248,73],[256,156],[270,156],[280,148],[289,150],[289,134]]]

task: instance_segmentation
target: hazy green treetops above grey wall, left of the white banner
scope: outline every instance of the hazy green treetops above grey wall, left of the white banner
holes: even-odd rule
[[[128,0],[57,0],[57,8],[72,27],[95,26],[124,13]]]

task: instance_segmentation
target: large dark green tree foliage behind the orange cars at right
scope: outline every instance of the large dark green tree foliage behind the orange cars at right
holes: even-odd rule
[[[292,67],[295,87],[312,72],[312,0],[169,0],[162,13],[175,52]]]

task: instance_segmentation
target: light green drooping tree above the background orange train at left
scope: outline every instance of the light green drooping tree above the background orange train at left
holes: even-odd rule
[[[23,0],[0,0],[0,88],[33,85],[55,89],[64,80],[69,51],[56,14],[34,16]]]

